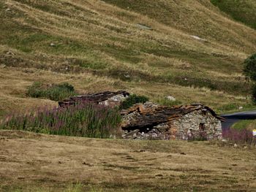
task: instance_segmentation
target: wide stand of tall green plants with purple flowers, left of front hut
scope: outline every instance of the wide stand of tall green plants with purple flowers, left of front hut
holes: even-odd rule
[[[34,131],[75,137],[109,138],[117,134],[121,116],[117,109],[82,102],[58,109],[38,109],[26,115],[10,115],[1,129]]]

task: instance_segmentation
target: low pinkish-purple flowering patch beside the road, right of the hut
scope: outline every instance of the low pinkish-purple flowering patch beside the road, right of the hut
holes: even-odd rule
[[[222,131],[222,137],[236,144],[256,145],[256,137],[252,135],[252,131],[246,128],[242,130],[229,128]]]

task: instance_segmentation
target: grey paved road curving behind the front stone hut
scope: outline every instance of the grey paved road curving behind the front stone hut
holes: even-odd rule
[[[234,123],[239,120],[250,120],[256,119],[256,110],[248,112],[234,112],[231,114],[221,115],[222,118],[225,118],[225,122],[222,123],[222,128],[230,128]]]

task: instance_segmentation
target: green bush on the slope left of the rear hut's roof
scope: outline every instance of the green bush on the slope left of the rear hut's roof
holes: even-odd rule
[[[59,101],[66,99],[69,96],[74,96],[75,89],[72,85],[67,82],[53,85],[43,85],[42,82],[34,82],[28,88],[27,96],[34,98],[46,98],[53,101]]]

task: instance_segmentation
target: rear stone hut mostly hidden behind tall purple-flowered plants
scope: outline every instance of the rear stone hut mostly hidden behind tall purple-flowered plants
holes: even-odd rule
[[[105,106],[118,106],[121,101],[124,101],[129,96],[127,91],[110,92],[105,91],[102,93],[89,93],[80,96],[72,96],[69,99],[59,101],[59,107],[66,107],[83,101],[94,102],[96,104],[104,104]]]

